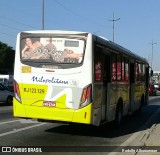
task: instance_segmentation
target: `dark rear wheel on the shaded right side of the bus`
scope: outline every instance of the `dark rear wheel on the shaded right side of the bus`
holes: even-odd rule
[[[120,125],[122,123],[122,118],[123,118],[123,109],[122,106],[119,104],[116,109],[116,117],[115,117],[116,125]]]

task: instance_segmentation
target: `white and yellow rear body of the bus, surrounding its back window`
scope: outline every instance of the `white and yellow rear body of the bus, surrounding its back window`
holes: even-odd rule
[[[17,41],[19,63],[15,63],[14,80],[18,83],[21,101],[14,98],[15,117],[92,124],[92,103],[81,105],[84,104],[81,103],[83,89],[92,84],[91,35],[88,38],[83,65],[68,69],[22,64]]]

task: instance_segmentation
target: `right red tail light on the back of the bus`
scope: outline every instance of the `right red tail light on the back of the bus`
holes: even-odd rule
[[[86,106],[90,102],[91,98],[91,85],[83,88],[81,96],[81,107]]]

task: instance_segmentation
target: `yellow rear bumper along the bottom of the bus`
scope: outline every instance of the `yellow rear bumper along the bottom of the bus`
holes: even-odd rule
[[[13,99],[15,117],[91,124],[92,103],[78,110],[24,105]]]

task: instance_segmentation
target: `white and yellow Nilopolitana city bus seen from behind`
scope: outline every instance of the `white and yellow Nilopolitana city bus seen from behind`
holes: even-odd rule
[[[148,103],[146,59],[103,37],[77,31],[17,36],[14,116],[99,126]]]

